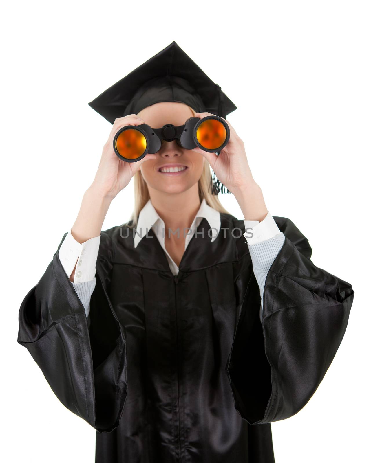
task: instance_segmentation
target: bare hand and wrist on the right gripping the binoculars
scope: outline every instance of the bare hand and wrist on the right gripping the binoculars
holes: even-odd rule
[[[195,113],[195,117],[200,119],[206,116],[215,114]],[[243,140],[239,138],[232,125],[224,120],[231,135],[226,146],[220,150],[219,156],[201,150],[198,146],[192,151],[201,153],[208,160],[218,180],[236,197],[245,219],[261,221],[268,213],[262,190],[252,177]]]

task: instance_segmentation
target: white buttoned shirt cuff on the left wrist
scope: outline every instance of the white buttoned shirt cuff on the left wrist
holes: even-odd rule
[[[100,241],[101,235],[81,244],[72,236],[71,230],[67,233],[59,248],[58,257],[68,277],[71,276],[77,261],[74,283],[94,279]]]

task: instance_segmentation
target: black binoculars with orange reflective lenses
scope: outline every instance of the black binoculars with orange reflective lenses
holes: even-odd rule
[[[166,124],[159,129],[152,129],[148,124],[125,125],[116,132],[113,149],[120,159],[133,163],[147,153],[157,153],[163,140],[176,140],[186,150],[198,146],[204,151],[217,152],[226,146],[229,137],[229,126],[223,118],[190,117],[183,125]]]

